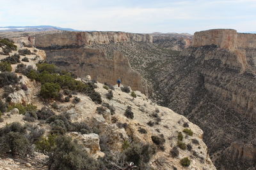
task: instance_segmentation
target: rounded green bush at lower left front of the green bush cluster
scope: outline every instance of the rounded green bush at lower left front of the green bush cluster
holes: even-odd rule
[[[40,96],[44,99],[57,98],[60,92],[60,85],[57,83],[45,83],[40,90]]]

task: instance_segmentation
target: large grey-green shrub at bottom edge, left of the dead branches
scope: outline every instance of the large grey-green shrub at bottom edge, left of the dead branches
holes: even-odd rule
[[[88,156],[72,138],[59,136],[56,147],[49,155],[49,169],[99,169],[99,163]]]

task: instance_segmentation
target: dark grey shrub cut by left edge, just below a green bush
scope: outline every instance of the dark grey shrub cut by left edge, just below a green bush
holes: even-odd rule
[[[15,73],[3,72],[0,73],[0,87],[6,85],[15,85],[19,82],[19,78]]]

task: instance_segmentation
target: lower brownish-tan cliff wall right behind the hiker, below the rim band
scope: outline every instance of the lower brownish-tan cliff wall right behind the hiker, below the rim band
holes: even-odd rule
[[[46,50],[46,53],[48,62],[72,71],[81,78],[89,74],[94,80],[112,85],[121,78],[123,85],[148,94],[143,78],[131,69],[129,60],[121,52],[114,52],[113,59],[108,59],[104,50],[93,48]]]

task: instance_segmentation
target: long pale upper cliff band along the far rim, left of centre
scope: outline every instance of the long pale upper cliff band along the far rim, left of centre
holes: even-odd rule
[[[63,32],[61,34],[45,34],[35,37],[38,48],[56,48],[58,46],[83,46],[93,44],[109,44],[118,42],[141,41],[152,43],[148,34],[131,34],[126,32]]]

